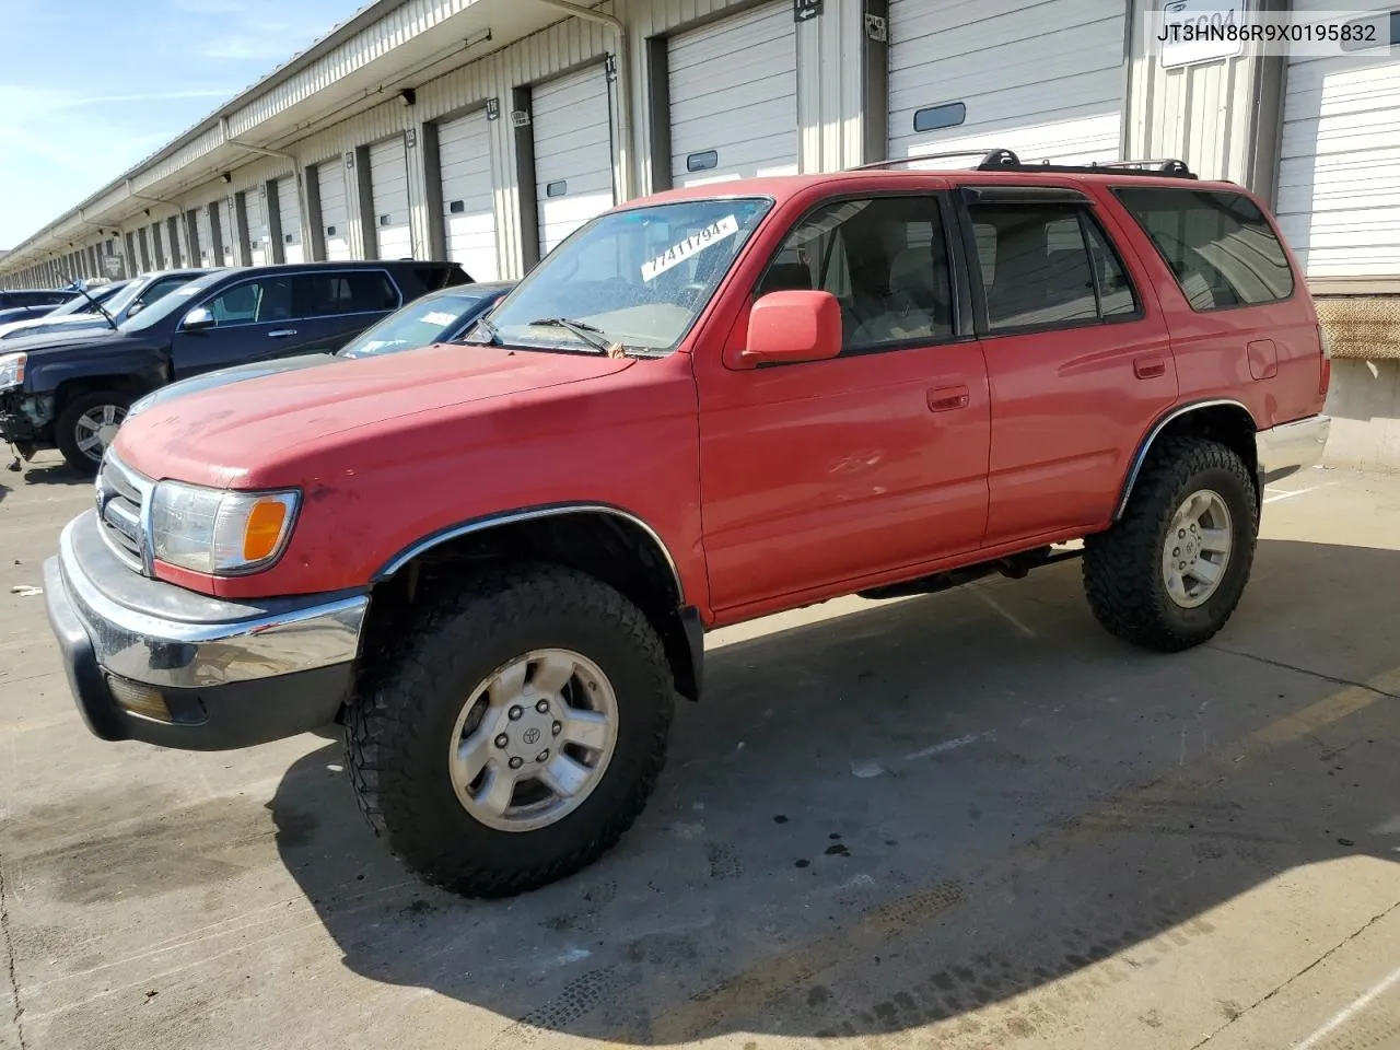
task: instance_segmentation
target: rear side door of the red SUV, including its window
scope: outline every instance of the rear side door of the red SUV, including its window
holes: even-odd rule
[[[1138,437],[1176,402],[1156,295],[1077,189],[970,186],[962,204],[991,382],[986,545],[1102,525]]]

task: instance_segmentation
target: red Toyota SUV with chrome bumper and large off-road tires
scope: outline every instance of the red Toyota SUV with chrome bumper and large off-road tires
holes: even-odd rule
[[[172,399],[45,567],[102,739],[346,727],[389,847],[468,895],[617,841],[713,627],[1022,575],[1210,638],[1330,363],[1264,207],[1177,162],[872,168],[594,218],[468,344]]]

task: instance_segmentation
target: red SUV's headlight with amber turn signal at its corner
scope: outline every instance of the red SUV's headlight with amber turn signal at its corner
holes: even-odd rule
[[[266,568],[291,536],[301,494],[232,493],[161,482],[151,496],[155,557],[211,575]]]

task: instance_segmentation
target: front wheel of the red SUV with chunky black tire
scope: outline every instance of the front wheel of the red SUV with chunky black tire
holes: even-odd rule
[[[434,885],[535,889],[591,864],[644,808],[673,686],[661,638],[554,566],[476,580],[371,659],[346,732],[371,826]]]

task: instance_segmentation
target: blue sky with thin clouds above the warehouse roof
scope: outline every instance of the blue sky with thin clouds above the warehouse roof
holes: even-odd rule
[[[101,189],[364,0],[3,0],[0,248]]]

